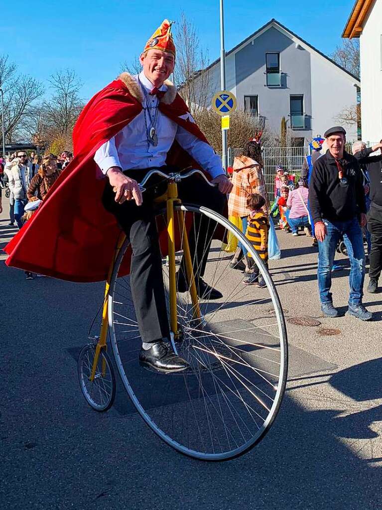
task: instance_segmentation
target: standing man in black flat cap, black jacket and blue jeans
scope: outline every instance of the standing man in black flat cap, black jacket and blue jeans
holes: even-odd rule
[[[336,246],[343,236],[350,259],[350,295],[347,313],[361,320],[372,314],[362,304],[365,251],[361,227],[366,224],[362,173],[356,159],[344,150],[346,131],[330,127],[325,134],[328,150],[313,167],[309,186],[316,238],[318,240],[318,289],[326,317],[338,317],[330,287]]]

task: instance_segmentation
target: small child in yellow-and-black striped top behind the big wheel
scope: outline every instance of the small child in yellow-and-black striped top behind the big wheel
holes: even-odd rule
[[[253,193],[247,200],[247,205],[250,210],[248,216],[248,226],[245,237],[249,239],[254,249],[259,252],[266,267],[268,267],[268,232],[269,232],[269,219],[262,210],[264,207],[264,197],[258,193]],[[263,276],[250,253],[247,253],[247,265],[251,269],[251,273],[244,278],[245,285],[255,285],[256,287],[263,288],[266,286]]]

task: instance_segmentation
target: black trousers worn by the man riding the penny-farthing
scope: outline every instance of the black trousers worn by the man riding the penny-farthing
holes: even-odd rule
[[[126,170],[125,175],[140,182],[148,169]],[[165,173],[174,168],[163,167]],[[132,247],[130,286],[142,342],[154,342],[169,338],[166,299],[162,275],[162,258],[158,241],[155,215],[158,206],[154,199],[166,191],[167,183],[159,176],[153,176],[146,184],[143,202],[138,207],[134,200],[122,204],[115,201],[115,193],[107,182],[103,204],[117,219],[129,238]],[[222,213],[226,196],[212,188],[197,176],[189,177],[177,185],[179,197],[184,203],[195,203]],[[204,274],[209,246],[215,228],[213,221],[203,219],[195,222],[189,235],[191,258],[194,261],[195,276]],[[181,265],[182,270],[182,265]]]

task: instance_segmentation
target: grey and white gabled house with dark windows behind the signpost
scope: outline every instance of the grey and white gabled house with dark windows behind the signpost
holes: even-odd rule
[[[209,66],[210,100],[220,88],[220,59]],[[226,53],[226,88],[238,108],[259,116],[277,133],[287,119],[294,145],[337,125],[337,116],[356,104],[358,78],[275,19]],[[344,125],[357,139],[355,123]]]

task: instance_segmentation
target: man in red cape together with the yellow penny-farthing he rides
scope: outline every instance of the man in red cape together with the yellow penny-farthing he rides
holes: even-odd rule
[[[146,423],[183,453],[224,460],[256,444],[276,416],[287,369],[284,318],[256,250],[221,216],[232,188],[221,160],[167,80],[175,65],[170,22],[148,40],[140,63],[140,74],[122,73],[84,108],[74,159],[6,247],[7,264],[107,280],[100,337],[79,359],[85,398],[97,411],[113,403],[109,332]],[[228,235],[256,260],[267,284],[258,294],[231,270]]]

